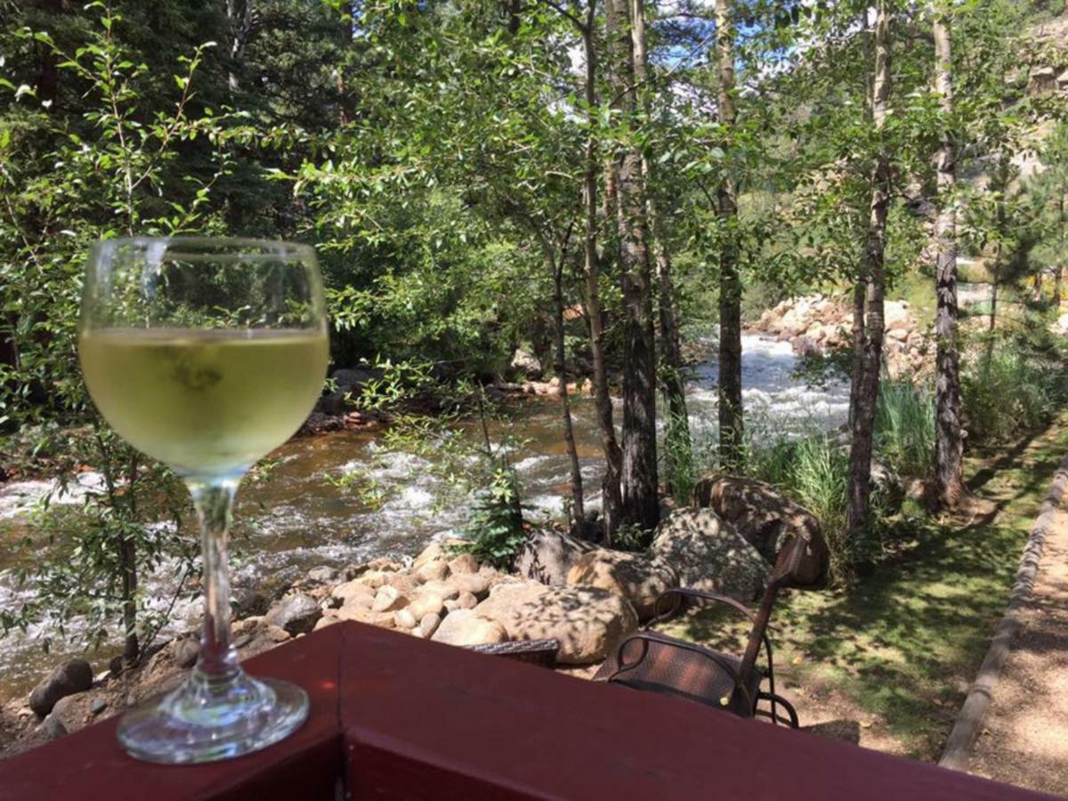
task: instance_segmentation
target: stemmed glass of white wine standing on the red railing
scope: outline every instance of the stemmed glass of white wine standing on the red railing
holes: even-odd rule
[[[247,675],[230,633],[226,535],[252,465],[315,405],[328,341],[305,245],[193,237],[93,247],[78,352],[97,409],[189,487],[202,536],[204,627],[187,680],[127,712],[119,740],[158,763],[257,751],[308,717],[308,694]]]

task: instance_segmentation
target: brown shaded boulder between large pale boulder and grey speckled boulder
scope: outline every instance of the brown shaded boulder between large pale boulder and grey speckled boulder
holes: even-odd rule
[[[617,593],[633,604],[640,621],[647,621],[656,613],[657,598],[678,586],[678,574],[656,556],[598,548],[579,557],[567,583]]]

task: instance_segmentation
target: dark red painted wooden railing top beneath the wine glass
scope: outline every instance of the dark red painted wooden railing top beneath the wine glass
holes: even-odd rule
[[[312,694],[260,754],[125,756],[114,722],[0,763],[0,799],[990,799],[1038,794],[356,623],[248,664]]]

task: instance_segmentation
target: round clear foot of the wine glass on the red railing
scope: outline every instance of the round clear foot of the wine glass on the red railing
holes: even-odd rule
[[[138,759],[168,765],[232,759],[288,737],[308,719],[308,693],[244,671],[226,680],[194,671],[180,687],[119,724],[119,742]]]

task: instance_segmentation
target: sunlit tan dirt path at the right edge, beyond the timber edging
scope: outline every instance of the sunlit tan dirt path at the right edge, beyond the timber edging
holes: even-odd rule
[[[1047,535],[1031,602],[969,771],[1068,796],[1068,511]]]

